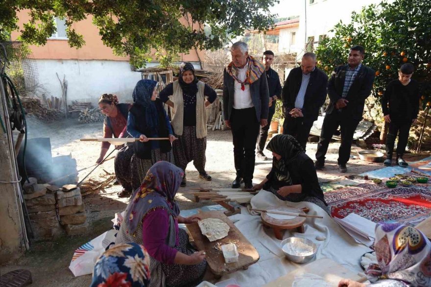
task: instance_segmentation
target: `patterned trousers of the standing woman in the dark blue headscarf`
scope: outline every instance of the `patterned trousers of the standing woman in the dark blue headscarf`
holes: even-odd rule
[[[151,159],[140,159],[135,154],[132,156],[130,163],[130,179],[132,182],[133,190],[139,188],[144,181],[146,172],[150,167],[159,161],[167,161],[169,163],[175,164],[173,159],[172,150],[166,153],[161,153],[160,148],[151,150]]]

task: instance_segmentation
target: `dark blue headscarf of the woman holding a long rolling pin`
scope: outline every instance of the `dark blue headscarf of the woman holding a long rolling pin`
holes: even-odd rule
[[[159,126],[159,117],[157,115],[156,105],[154,101],[151,100],[151,96],[153,95],[153,91],[156,86],[156,81],[140,80],[136,84],[132,95],[133,103],[144,108],[146,124],[154,133],[157,133],[157,127]]]

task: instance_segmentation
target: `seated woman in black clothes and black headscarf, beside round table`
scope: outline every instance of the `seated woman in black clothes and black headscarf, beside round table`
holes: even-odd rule
[[[270,191],[286,201],[308,201],[329,214],[313,161],[301,144],[290,135],[276,135],[266,149],[272,151],[272,168],[253,189]]]

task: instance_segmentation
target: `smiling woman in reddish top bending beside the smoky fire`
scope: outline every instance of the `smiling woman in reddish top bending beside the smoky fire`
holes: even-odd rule
[[[126,128],[127,116],[131,106],[131,104],[119,103],[117,96],[113,94],[103,94],[99,97],[100,111],[106,116],[103,122],[103,138],[129,137]],[[103,160],[110,145],[109,142],[102,142],[100,156],[96,161],[97,164]],[[133,156],[133,148],[127,144],[125,146],[117,146],[116,148],[119,149],[119,151],[114,160],[115,176],[123,187],[118,195],[124,196],[132,192],[130,161]]]

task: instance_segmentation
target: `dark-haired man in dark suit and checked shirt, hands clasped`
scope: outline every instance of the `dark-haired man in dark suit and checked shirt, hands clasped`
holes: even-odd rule
[[[370,96],[373,88],[375,72],[362,65],[364,48],[350,48],[347,65],[338,66],[331,74],[328,82],[328,96],[331,100],[326,109],[320,140],[317,144],[316,162],[314,167],[322,169],[329,142],[338,126],[341,131],[341,145],[338,150],[338,166],[340,172],[346,172],[346,163],[350,159],[353,135],[359,121],[362,120],[365,99]]]

